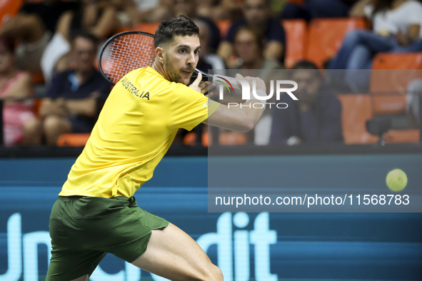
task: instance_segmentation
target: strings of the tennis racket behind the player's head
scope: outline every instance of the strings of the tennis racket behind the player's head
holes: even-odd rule
[[[101,68],[106,78],[116,84],[126,73],[152,66],[155,59],[154,37],[126,34],[116,37],[101,55]]]

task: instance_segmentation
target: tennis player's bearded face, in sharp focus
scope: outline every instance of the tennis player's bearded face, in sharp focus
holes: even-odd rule
[[[170,81],[189,85],[192,73],[198,64],[199,37],[174,36],[173,40],[164,46],[164,71]]]

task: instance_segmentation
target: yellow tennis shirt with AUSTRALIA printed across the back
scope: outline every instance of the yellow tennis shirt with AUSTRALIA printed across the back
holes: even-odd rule
[[[61,196],[131,197],[152,178],[179,128],[191,131],[220,103],[153,68],[139,68],[116,83]]]

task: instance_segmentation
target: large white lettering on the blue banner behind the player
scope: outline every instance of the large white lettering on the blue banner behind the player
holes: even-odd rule
[[[250,244],[254,245],[255,279],[256,281],[276,281],[277,275],[271,274],[269,245],[277,242],[276,230],[269,230],[268,213],[260,213],[253,223],[253,230],[232,231],[236,228],[246,228],[249,217],[246,213],[223,213],[217,220],[216,233],[205,233],[196,241],[207,252],[211,245],[217,245],[218,267],[226,281],[247,281],[250,279]],[[23,245],[23,247],[21,247]],[[0,275],[0,281],[39,280],[38,245],[46,245],[48,258],[51,258],[51,239],[47,231],[21,233],[21,214],[14,213],[7,221],[7,270]],[[233,259],[234,255],[234,259]],[[23,260],[22,260],[23,257]],[[234,272],[233,272],[234,260]],[[22,264],[24,267],[22,268]],[[233,276],[234,275],[234,276]],[[152,275],[155,281],[166,280],[158,275]],[[233,278],[234,277],[234,278]],[[141,270],[128,262],[125,269],[116,274],[104,272],[101,267],[91,275],[92,281],[139,281]]]

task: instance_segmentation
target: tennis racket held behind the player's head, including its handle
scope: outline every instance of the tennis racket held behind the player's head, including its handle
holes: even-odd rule
[[[155,60],[154,35],[142,31],[124,31],[106,41],[99,56],[99,71],[112,85],[130,71],[152,66]],[[214,76],[195,69],[193,77],[202,77],[213,83],[225,81],[231,88],[240,89],[236,78]],[[218,80],[219,79],[219,80]]]

